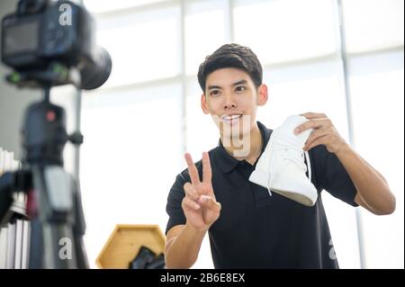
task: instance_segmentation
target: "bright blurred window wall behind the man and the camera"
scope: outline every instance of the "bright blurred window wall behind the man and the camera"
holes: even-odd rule
[[[17,1],[2,1],[1,16]],[[389,216],[322,200],[341,268],[404,268],[404,2],[402,0],[85,0],[113,61],[102,88],[83,93],[80,182],[92,267],[116,224],[166,229],[175,175],[217,145],[196,74],[205,56],[237,42],[257,53],[269,101],[257,120],[324,112],[379,170],[397,198]],[[0,67],[4,75],[5,67]],[[18,129],[34,91],[0,83],[0,146],[21,153]],[[71,87],[53,103],[77,122]],[[65,151],[75,172],[73,149]],[[78,169],[76,169],[78,172]],[[193,268],[212,268],[208,238]]]

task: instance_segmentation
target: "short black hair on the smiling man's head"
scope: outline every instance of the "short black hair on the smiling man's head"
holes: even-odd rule
[[[256,54],[247,47],[236,43],[225,44],[207,56],[198,70],[198,83],[205,94],[205,82],[212,72],[225,67],[244,70],[258,87],[263,82],[263,68]]]

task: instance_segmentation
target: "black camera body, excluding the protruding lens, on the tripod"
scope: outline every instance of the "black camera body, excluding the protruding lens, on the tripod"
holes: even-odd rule
[[[93,26],[90,14],[69,1],[54,2],[37,13],[6,15],[2,22],[2,60],[14,68],[42,67],[49,60],[75,66],[91,58]]]

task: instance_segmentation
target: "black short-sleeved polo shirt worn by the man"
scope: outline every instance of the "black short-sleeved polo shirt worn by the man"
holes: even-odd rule
[[[265,141],[272,130],[257,122]],[[222,144],[209,151],[212,187],[221,203],[220,218],[209,229],[215,268],[338,268],[320,192],[357,206],[356,188],[334,154],[325,146],[311,148],[312,183],[318,200],[312,207],[293,202],[248,181],[254,166],[231,157]],[[196,163],[202,178],[202,162]],[[181,202],[187,169],[177,175],[167,198],[166,233],[185,224]]]

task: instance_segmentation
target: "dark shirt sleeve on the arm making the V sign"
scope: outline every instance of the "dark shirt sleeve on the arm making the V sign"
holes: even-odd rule
[[[186,182],[190,182],[188,173],[182,172],[181,174],[177,175],[175,178],[175,184],[173,184],[167,196],[166,212],[169,216],[169,219],[166,225],[166,234],[168,230],[175,227],[176,225],[185,224],[182,201],[184,198],[183,185]]]

